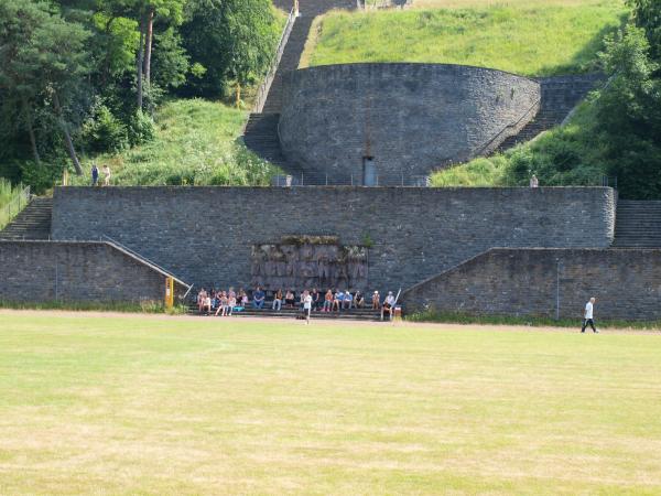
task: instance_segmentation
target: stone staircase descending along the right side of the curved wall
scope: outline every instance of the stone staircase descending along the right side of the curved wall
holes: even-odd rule
[[[604,80],[600,74],[540,78],[542,101],[540,111],[518,134],[507,138],[496,152],[530,141],[543,131],[559,126],[572,109]]]

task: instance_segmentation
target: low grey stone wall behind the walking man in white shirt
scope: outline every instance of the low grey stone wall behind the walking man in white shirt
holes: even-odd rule
[[[661,319],[661,250],[494,249],[411,288],[408,311],[581,319]]]

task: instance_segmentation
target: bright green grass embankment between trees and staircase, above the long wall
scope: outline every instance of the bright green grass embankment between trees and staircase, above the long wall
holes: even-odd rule
[[[269,184],[275,169],[237,141],[248,114],[220,103],[182,99],[164,104],[155,116],[155,139],[118,154],[86,160],[110,166],[115,185]]]

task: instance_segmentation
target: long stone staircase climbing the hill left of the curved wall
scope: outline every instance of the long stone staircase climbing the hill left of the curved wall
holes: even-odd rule
[[[282,10],[290,11],[293,1],[277,0],[275,6]],[[282,168],[288,174],[299,175],[301,171],[286,163],[280,148],[278,137],[278,122],[282,110],[283,77],[291,71],[296,71],[301,62],[301,55],[305,48],[305,42],[310,29],[316,18],[332,9],[356,8],[355,0],[301,0],[300,17],[296,19],[289,41],[282,53],[280,65],[275,72],[273,83],[269,89],[267,101],[261,114],[251,114],[243,131],[243,142],[262,159]]]

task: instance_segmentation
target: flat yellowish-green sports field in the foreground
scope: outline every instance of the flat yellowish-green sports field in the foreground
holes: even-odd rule
[[[661,335],[0,313],[1,494],[659,494]]]

